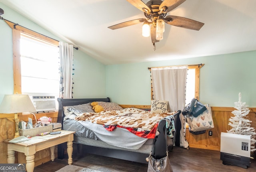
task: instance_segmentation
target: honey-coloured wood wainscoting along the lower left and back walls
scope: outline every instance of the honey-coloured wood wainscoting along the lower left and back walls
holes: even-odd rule
[[[150,105],[120,105],[123,108],[126,107],[136,107],[140,109],[150,109]],[[256,128],[256,108],[249,108],[250,113],[248,114],[248,119],[252,121],[251,127]],[[211,129],[212,136],[209,136],[208,130],[204,134],[194,135],[186,129],[186,139],[189,142],[191,148],[203,148],[209,150],[220,150],[220,134],[221,132],[226,132],[230,130],[231,127],[228,125],[228,119],[232,114],[232,111],[235,109],[233,107],[212,107],[212,116],[214,120],[214,128]],[[57,122],[58,112],[53,113],[42,113],[36,114],[36,119],[39,119],[42,116],[47,116],[52,118],[52,122]],[[33,115],[19,115],[19,119],[23,121],[28,121],[28,117],[33,119],[35,123],[35,118]],[[3,140],[13,137],[13,121],[14,114],[4,114],[0,115],[0,156],[3,157],[0,160],[0,163],[7,163],[7,144]],[[25,160],[24,154],[17,154],[16,159],[19,163],[24,163]],[[50,150],[42,150],[36,152],[35,154],[35,166],[38,166],[42,163],[50,161]]]

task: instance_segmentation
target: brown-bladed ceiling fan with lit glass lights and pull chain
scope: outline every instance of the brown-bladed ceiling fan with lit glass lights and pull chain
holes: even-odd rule
[[[154,49],[156,49],[155,43],[163,39],[164,23],[192,30],[200,30],[202,26],[204,26],[204,23],[188,18],[179,16],[166,16],[168,12],[178,7],[186,0],[150,0],[146,4],[142,0],[127,1],[142,12],[144,12],[146,18],[130,20],[127,22],[109,26],[108,28],[115,30],[143,22],[142,35],[145,37],[151,35]],[[152,24],[151,28],[149,26],[150,24]]]

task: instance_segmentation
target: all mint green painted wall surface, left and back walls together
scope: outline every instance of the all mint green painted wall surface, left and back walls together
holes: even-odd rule
[[[47,30],[14,12],[4,4],[4,18],[21,26],[60,40]],[[60,40],[62,41],[62,40]],[[13,93],[12,29],[0,20],[0,101]],[[200,101],[211,106],[233,107],[242,93],[242,101],[256,107],[256,51],[130,63],[103,65],[74,49],[74,98],[110,97],[119,104],[150,105],[148,67],[204,63],[200,75]]]

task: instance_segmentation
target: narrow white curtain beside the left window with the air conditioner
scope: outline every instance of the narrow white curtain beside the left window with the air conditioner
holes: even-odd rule
[[[73,45],[59,42],[60,47],[60,97],[72,99]]]

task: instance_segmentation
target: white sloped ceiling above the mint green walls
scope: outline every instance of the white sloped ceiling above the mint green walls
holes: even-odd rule
[[[150,37],[142,37],[142,23],[117,30],[108,28],[145,18],[126,0],[0,2],[104,64],[256,50],[256,0],[186,0],[167,15],[190,18],[204,26],[195,31],[166,24],[164,39],[156,43],[156,51]]]

